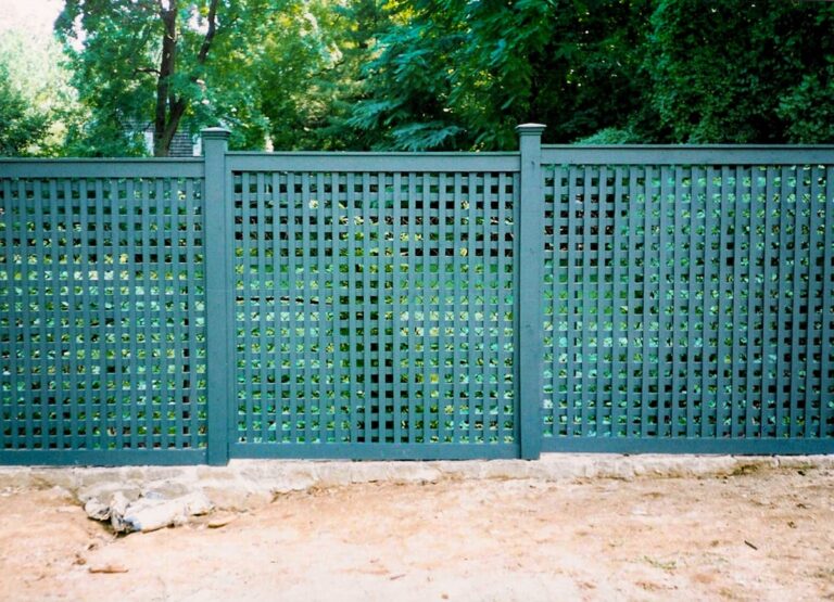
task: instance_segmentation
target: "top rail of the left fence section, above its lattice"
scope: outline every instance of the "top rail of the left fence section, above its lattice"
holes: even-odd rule
[[[202,178],[195,158],[0,158],[0,178]]]

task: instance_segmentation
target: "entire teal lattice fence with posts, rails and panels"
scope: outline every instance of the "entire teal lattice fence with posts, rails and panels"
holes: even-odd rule
[[[0,463],[834,451],[834,146],[0,159]]]

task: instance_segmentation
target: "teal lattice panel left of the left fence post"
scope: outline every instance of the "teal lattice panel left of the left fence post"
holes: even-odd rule
[[[0,179],[0,449],[205,446],[201,189]]]

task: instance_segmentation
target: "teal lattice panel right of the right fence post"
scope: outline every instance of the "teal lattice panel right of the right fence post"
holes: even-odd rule
[[[545,436],[834,436],[834,168],[544,185]]]

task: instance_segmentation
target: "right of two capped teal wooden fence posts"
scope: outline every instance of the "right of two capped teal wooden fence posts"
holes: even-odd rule
[[[542,450],[542,264],[544,255],[544,190],[542,185],[541,124],[516,128],[521,152],[521,192],[518,219],[518,287],[516,317],[516,376],[521,458],[535,460]]]

